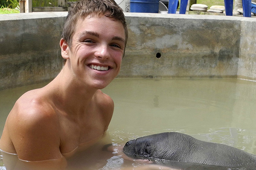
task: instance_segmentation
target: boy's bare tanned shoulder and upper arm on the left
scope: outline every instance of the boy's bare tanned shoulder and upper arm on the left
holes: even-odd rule
[[[59,149],[58,118],[51,109],[36,105],[20,108],[15,105],[5,128],[8,136],[2,136],[1,143],[4,144],[5,137],[6,142],[12,142],[19,159],[15,169],[61,170],[66,166],[66,159]]]

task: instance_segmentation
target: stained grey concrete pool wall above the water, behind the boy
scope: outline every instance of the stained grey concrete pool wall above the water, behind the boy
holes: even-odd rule
[[[67,12],[0,15],[0,89],[49,81],[62,67]],[[125,13],[129,38],[118,75],[256,81],[256,18]]]

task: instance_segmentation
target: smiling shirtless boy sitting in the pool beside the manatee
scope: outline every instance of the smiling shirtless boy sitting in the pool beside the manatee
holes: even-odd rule
[[[48,85],[17,100],[0,139],[3,153],[28,166],[58,170],[67,157],[99,139],[114,107],[100,89],[118,75],[127,38],[124,14],[114,0],[75,3],[60,40],[66,62]]]

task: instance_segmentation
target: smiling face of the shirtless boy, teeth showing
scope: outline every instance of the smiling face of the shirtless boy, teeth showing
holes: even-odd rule
[[[125,30],[120,21],[105,15],[78,20],[71,44],[66,64],[84,85],[102,89],[118,75],[125,49]]]

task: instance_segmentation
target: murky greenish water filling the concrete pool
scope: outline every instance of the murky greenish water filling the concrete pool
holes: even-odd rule
[[[37,84],[0,91],[0,132],[17,98]],[[256,83],[237,79],[115,79],[103,92],[115,103],[108,133],[114,145],[154,133],[180,132],[256,154]],[[79,153],[70,170],[89,169]],[[87,154],[88,156],[88,154]],[[95,160],[101,159],[100,155]],[[105,159],[105,160],[104,160]],[[122,167],[109,155],[91,169]],[[83,162],[78,165],[79,161]],[[74,166],[76,164],[77,166]],[[97,165],[96,165],[97,164]],[[135,167],[129,162],[126,166]]]

